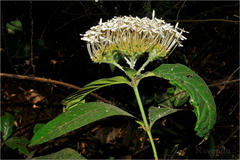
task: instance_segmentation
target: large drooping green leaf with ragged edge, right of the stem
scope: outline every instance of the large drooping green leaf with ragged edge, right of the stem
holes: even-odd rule
[[[198,136],[207,137],[216,122],[216,105],[203,79],[182,64],[163,64],[141,78],[150,76],[168,79],[171,84],[186,91],[197,117],[194,129]]]

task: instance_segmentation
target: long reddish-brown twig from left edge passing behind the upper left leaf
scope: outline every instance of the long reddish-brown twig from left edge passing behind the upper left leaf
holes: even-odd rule
[[[73,88],[75,90],[81,90],[80,87],[69,84],[69,83],[60,82],[60,81],[56,81],[56,80],[52,80],[52,79],[41,78],[41,77],[23,76],[23,75],[9,74],[9,73],[0,73],[0,77],[8,77],[8,78],[15,78],[15,79],[23,79],[23,80],[31,80],[31,81],[38,81],[38,82],[44,82],[44,83],[58,84],[58,85],[62,85],[65,87]],[[105,102],[105,103],[113,104],[111,101],[106,100],[105,98],[97,95],[96,93],[90,93],[90,95]]]

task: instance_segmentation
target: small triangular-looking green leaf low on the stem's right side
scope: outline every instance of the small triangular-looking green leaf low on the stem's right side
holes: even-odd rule
[[[173,108],[168,108],[168,107],[166,107],[166,108],[150,107],[148,110],[150,128],[153,126],[153,124],[157,120],[159,120],[169,114],[175,113],[177,111],[180,111],[180,109],[173,109]]]

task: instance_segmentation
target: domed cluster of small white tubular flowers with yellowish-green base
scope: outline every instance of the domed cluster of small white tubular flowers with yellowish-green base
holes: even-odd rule
[[[183,29],[172,26],[164,20],[132,16],[114,17],[91,27],[83,36],[94,62],[112,62],[114,57],[123,57],[130,66],[144,52],[154,51],[154,59],[166,57],[176,46],[182,46]],[[132,67],[131,67],[132,68]]]

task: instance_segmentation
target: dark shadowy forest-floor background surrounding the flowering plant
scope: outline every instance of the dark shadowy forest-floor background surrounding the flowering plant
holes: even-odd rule
[[[91,62],[80,34],[97,25],[100,18],[104,22],[114,16],[151,17],[153,9],[157,18],[163,18],[173,25],[179,21],[179,27],[189,33],[185,34],[187,40],[183,42],[183,47],[177,48],[169,59],[155,61],[146,69],[154,69],[161,63],[187,65],[209,85],[217,106],[217,123],[211,134],[214,144],[205,142],[198,145],[201,139],[193,131],[195,116],[185,111],[169,116],[166,124],[163,125],[163,120],[154,128],[154,137],[159,138],[159,157],[239,158],[239,82],[225,86],[218,84],[238,79],[239,75],[236,70],[239,67],[237,1],[4,1],[1,2],[1,72],[45,77],[80,87],[99,78],[121,75],[119,70],[111,71],[106,64]],[[9,35],[6,24],[16,19],[22,22],[23,31]],[[31,35],[35,72],[29,64]],[[149,100],[153,93],[164,91],[170,85],[167,81],[153,78],[144,80],[139,87],[142,98]],[[44,97],[37,104],[39,108],[34,109],[33,103],[26,98],[26,92],[30,89]],[[31,139],[34,124],[45,123],[61,113],[59,102],[74,91],[63,86],[2,78],[1,110],[2,113],[14,113],[18,109],[19,113],[15,116],[19,123],[15,127],[16,135]],[[134,94],[127,86],[108,87],[96,93],[140,116]],[[12,94],[15,95],[10,96]],[[91,96],[87,100],[96,101]],[[184,129],[174,127],[175,123],[180,123]],[[123,133],[107,143],[104,137],[116,128]],[[37,149],[36,156],[40,156],[71,147],[87,158],[153,158],[149,143],[145,142],[145,148],[141,146],[144,142],[139,139],[144,137],[133,120],[113,117],[30,150]],[[173,153],[176,144],[179,147]],[[209,154],[211,151],[216,153],[215,156]],[[23,158],[17,150],[12,151],[6,146],[1,147],[1,152],[1,158]]]

